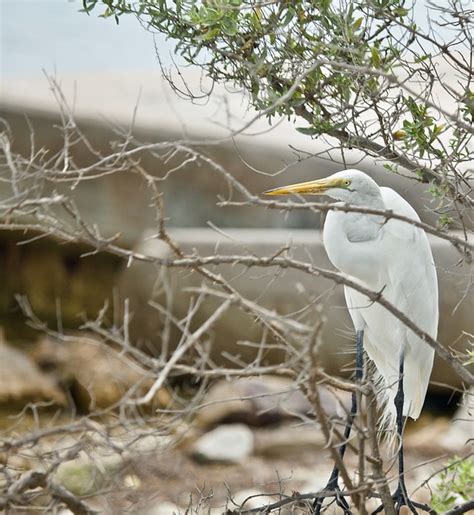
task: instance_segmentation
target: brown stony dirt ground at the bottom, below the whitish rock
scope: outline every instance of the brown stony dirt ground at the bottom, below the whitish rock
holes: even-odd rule
[[[254,430],[258,434],[259,429]],[[429,502],[429,487],[422,483],[441,468],[449,454],[437,447],[431,438],[423,441],[419,432],[407,437],[405,450],[407,484],[413,499]],[[350,453],[346,463],[353,471],[357,457]],[[238,464],[202,464],[185,450],[167,450],[159,455],[148,455],[135,460],[121,472],[121,488],[114,493],[96,496],[91,504],[108,513],[143,513],[172,515],[185,513],[224,513],[264,506],[295,492],[309,493],[325,486],[331,472],[331,459],[326,449],[294,449],[283,455],[253,455]],[[388,477],[396,476],[396,463]],[[394,490],[396,483],[392,481]],[[266,495],[263,495],[266,494]],[[254,496],[254,497],[252,497]],[[368,509],[378,506],[372,499]],[[282,513],[309,513],[300,505],[296,511]],[[330,507],[327,513],[342,513]]]

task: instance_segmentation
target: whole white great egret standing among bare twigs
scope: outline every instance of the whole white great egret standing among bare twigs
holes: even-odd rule
[[[345,170],[325,179],[292,184],[265,192],[266,195],[327,195],[358,207],[391,210],[413,220],[419,217],[410,204],[390,188],[379,187],[359,170]],[[326,252],[339,271],[383,296],[407,314],[416,325],[436,338],[438,330],[438,281],[433,255],[425,232],[412,224],[364,213],[329,211],[323,231]],[[393,496],[397,512],[403,505],[416,513],[408,497],[403,465],[403,417],[418,418],[433,367],[434,350],[389,311],[363,294],[344,287],[347,307],[356,331],[356,377],[362,377],[363,348],[375,363],[378,397],[383,419],[396,425],[400,438],[399,482]],[[365,340],[365,341],[364,341]],[[357,411],[355,395],[346,439]],[[345,445],[340,447],[344,456]],[[326,489],[339,491],[335,467]],[[350,513],[347,501],[338,504]],[[319,514],[322,498],[316,499]],[[428,508],[428,510],[427,510]],[[381,511],[381,510],[377,510]]]

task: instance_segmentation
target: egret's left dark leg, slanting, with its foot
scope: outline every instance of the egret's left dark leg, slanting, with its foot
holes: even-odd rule
[[[355,377],[357,382],[362,381],[363,373],[364,373],[364,331],[360,330],[356,332],[356,368],[355,368]],[[344,454],[346,453],[346,442],[349,440],[349,436],[351,434],[352,423],[354,422],[354,418],[357,414],[357,395],[356,392],[352,393],[352,401],[351,401],[351,411],[349,416],[347,417],[346,427],[344,429],[344,443],[339,447],[339,456],[341,460],[344,459]],[[344,515],[351,515],[351,511],[349,509],[349,504],[344,499],[342,495],[340,495],[340,488],[338,484],[339,480],[339,469],[337,465],[334,465],[334,468],[329,476],[329,481],[325,487],[325,491],[327,492],[335,492],[336,504],[343,509]],[[317,497],[313,503],[313,515],[319,515],[321,513],[321,508],[323,506],[324,497]]]

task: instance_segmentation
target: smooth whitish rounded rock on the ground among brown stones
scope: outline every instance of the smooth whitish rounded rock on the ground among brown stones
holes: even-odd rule
[[[238,463],[253,449],[252,431],[243,424],[230,424],[201,436],[191,447],[191,455],[203,463]]]

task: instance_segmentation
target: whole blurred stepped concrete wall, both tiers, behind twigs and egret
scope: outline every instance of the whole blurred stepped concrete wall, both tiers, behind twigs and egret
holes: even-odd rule
[[[28,86],[31,91],[36,91],[33,85]],[[13,86],[10,90],[14,91]],[[60,132],[55,128],[55,124],[59,121],[57,110],[50,104],[38,103],[39,107],[34,107],[34,102],[22,103],[22,98],[17,98],[19,101],[12,101],[10,98],[0,102],[0,117],[6,120],[14,136],[14,149],[25,155],[30,151],[30,126],[26,122],[25,115],[28,115],[34,127],[37,147],[44,147],[50,152],[60,148]],[[99,100],[96,100],[96,103]],[[79,109],[77,122],[94,145],[99,150],[107,152],[110,149],[112,131],[110,126],[99,120],[97,116],[94,117],[94,109],[94,106],[88,110]],[[146,123],[137,124],[135,129],[137,138],[143,141],[165,141],[182,137],[183,134],[176,120],[174,124],[170,124],[168,123],[169,112],[167,116],[166,119],[159,118],[158,115],[153,119],[149,117]],[[123,121],[122,117],[121,122]],[[295,134],[294,127],[291,127],[291,133],[288,132],[289,130],[289,125],[286,129],[285,126],[279,126],[276,132],[267,134],[263,139],[244,138],[239,141],[238,150],[233,142],[203,145],[202,149],[254,193],[279,184],[321,177],[343,168],[341,164],[314,157],[291,166],[275,176],[251,171],[245,164],[246,161],[269,174],[280,170],[285,162],[293,161],[295,156],[288,148],[289,142],[298,144],[299,148],[304,147],[306,150],[315,152],[321,150],[319,143],[309,138],[303,140],[302,135],[299,135],[297,140],[292,139]],[[196,134],[194,131],[191,136],[196,137]],[[288,137],[286,137],[287,134]],[[203,134],[200,136],[202,139]],[[348,157],[351,155],[354,157],[353,154],[348,153]],[[74,158],[78,163],[87,163],[90,156],[84,148],[79,147],[74,153]],[[150,158],[144,158],[142,165],[158,176],[164,175],[167,171],[166,166]],[[372,174],[381,185],[394,187],[416,207],[422,219],[435,222],[436,216],[431,211],[435,205],[431,202],[429,194],[424,193],[424,186],[412,180],[388,174],[381,166],[369,160],[359,164],[358,168]],[[196,164],[188,165],[174,174],[171,179],[163,182],[162,192],[169,218],[168,225],[176,227],[173,234],[187,251],[195,247],[200,253],[206,255],[213,253],[218,243],[220,251],[224,253],[240,254],[243,245],[251,252],[269,255],[289,241],[288,231],[283,228],[311,228],[307,231],[296,229],[292,231],[291,241],[295,244],[294,255],[299,259],[314,260],[319,266],[330,266],[321,246],[319,233],[314,230],[321,223],[321,218],[317,215],[303,211],[279,213],[258,207],[218,208],[218,196],[228,194],[228,184],[221,176]],[[5,184],[0,183],[0,198],[8,194]],[[119,243],[122,245],[139,247],[143,244],[144,232],[148,229],[153,231],[154,212],[148,206],[150,192],[144,185],[137,187],[137,178],[133,174],[121,173],[98,181],[85,182],[74,191],[74,198],[85,218],[97,223],[104,235],[120,232],[122,236]],[[216,232],[203,229],[209,221],[222,228],[241,227],[247,230],[230,231],[239,243],[236,246],[229,240],[222,239]],[[189,229],[179,229],[183,227]],[[85,250],[83,247],[70,246],[65,256],[64,248],[51,240],[45,240],[40,247],[22,246],[19,251],[15,246],[22,238],[24,236],[15,235],[12,244],[11,235],[0,233],[2,282],[8,285],[3,288],[0,299],[2,324],[8,327],[8,324],[15,320],[15,327],[18,329],[18,322],[21,320],[18,318],[13,298],[13,295],[18,292],[37,299],[34,303],[36,313],[40,318],[52,322],[56,318],[56,299],[59,298],[62,309],[67,315],[65,316],[66,327],[69,324],[76,325],[75,321],[81,320],[79,315],[81,312],[93,316],[103,301],[112,297],[112,289],[120,273],[120,263],[116,258],[100,255],[82,261],[80,256]],[[474,333],[472,289],[468,289],[469,274],[472,270],[466,264],[456,266],[460,256],[448,244],[436,239],[432,240],[432,244],[441,284],[440,341],[445,345],[463,348],[467,340],[466,334]],[[153,246],[152,243],[149,245]],[[152,248],[148,250],[154,251]],[[16,257],[9,257],[12,255]],[[18,256],[22,257],[19,259]],[[76,263],[76,265],[71,268],[70,263]],[[261,300],[264,305],[278,310],[279,313],[291,313],[304,306],[306,300],[302,291],[306,291],[310,296],[316,296],[318,302],[315,305],[320,306],[328,318],[325,325],[327,363],[333,369],[347,363],[346,351],[350,348],[350,339],[342,333],[349,334],[351,324],[340,287],[335,288],[328,281],[308,278],[294,271],[286,271],[279,275],[277,280],[270,281],[268,274],[270,273],[270,276],[273,274],[269,270],[252,270],[240,275],[239,267],[229,266],[218,269],[226,277],[233,278],[232,280],[244,295]],[[189,271],[173,271],[171,275],[176,292],[176,314],[182,316],[187,308],[189,297],[183,289],[189,285],[199,284],[200,279]],[[133,336],[143,342],[151,342],[152,346],[159,345],[160,337],[156,312],[150,311],[147,307],[151,294],[150,288],[155,277],[156,269],[149,265],[136,264],[123,272],[121,281],[122,295],[130,295],[133,300],[132,308],[135,317]],[[72,287],[72,284],[75,286]],[[321,295],[320,299],[319,295]],[[212,304],[206,305],[200,315],[201,318],[206,318],[213,309]],[[314,314],[310,313],[306,316],[311,322]],[[236,311],[223,318],[216,332],[218,352],[222,349],[235,352],[237,349],[242,355],[247,354],[247,357],[248,349],[237,347],[237,340],[258,341],[260,338],[259,331],[252,320]],[[269,356],[269,359],[277,359],[277,357]],[[442,363],[437,365],[434,378],[454,384],[457,381]]]

